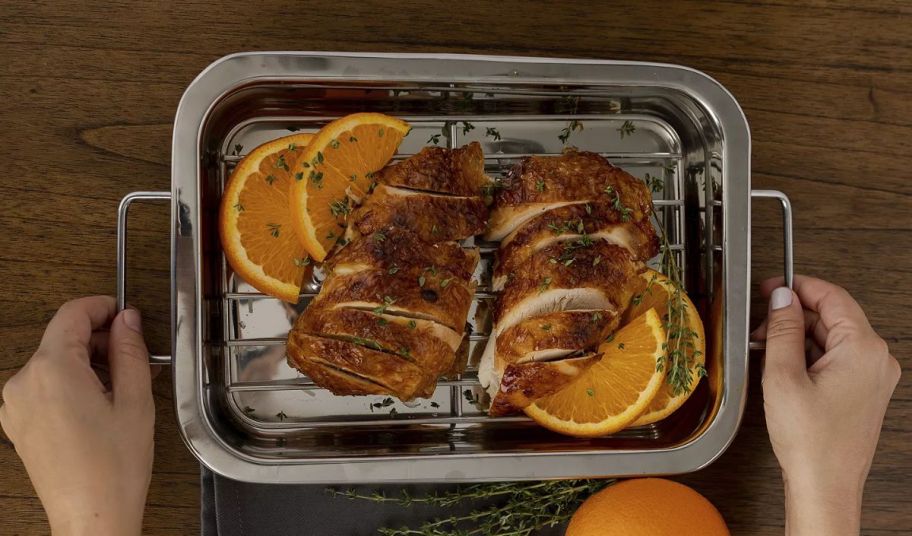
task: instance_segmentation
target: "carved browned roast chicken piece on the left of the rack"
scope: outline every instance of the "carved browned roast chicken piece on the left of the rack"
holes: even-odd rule
[[[337,395],[430,396],[454,366],[479,261],[489,179],[478,143],[426,148],[375,175],[350,242],[288,336],[289,364]]]

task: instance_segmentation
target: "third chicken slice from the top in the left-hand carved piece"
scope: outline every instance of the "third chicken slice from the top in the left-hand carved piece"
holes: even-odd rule
[[[456,242],[427,244],[401,227],[385,227],[358,237],[324,263],[327,271],[344,275],[369,268],[399,270],[407,266],[445,266],[468,280],[478,265],[478,248],[463,248]]]

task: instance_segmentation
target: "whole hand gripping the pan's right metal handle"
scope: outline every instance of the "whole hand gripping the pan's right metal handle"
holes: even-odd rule
[[[861,496],[900,366],[844,289],[765,281],[763,405],[785,481],[786,534],[857,535]]]

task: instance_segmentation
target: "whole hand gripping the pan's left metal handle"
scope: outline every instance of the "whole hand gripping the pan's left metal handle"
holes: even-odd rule
[[[92,361],[109,365],[110,389]],[[54,534],[140,534],[155,406],[138,311],[115,317],[107,296],[65,303],[3,401],[0,425]]]

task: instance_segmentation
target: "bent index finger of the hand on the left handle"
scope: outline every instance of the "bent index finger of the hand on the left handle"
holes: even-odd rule
[[[90,296],[64,303],[54,314],[44,330],[41,346],[55,355],[72,355],[61,352],[67,346],[88,348],[92,332],[102,329],[114,317],[116,304],[110,296]]]

